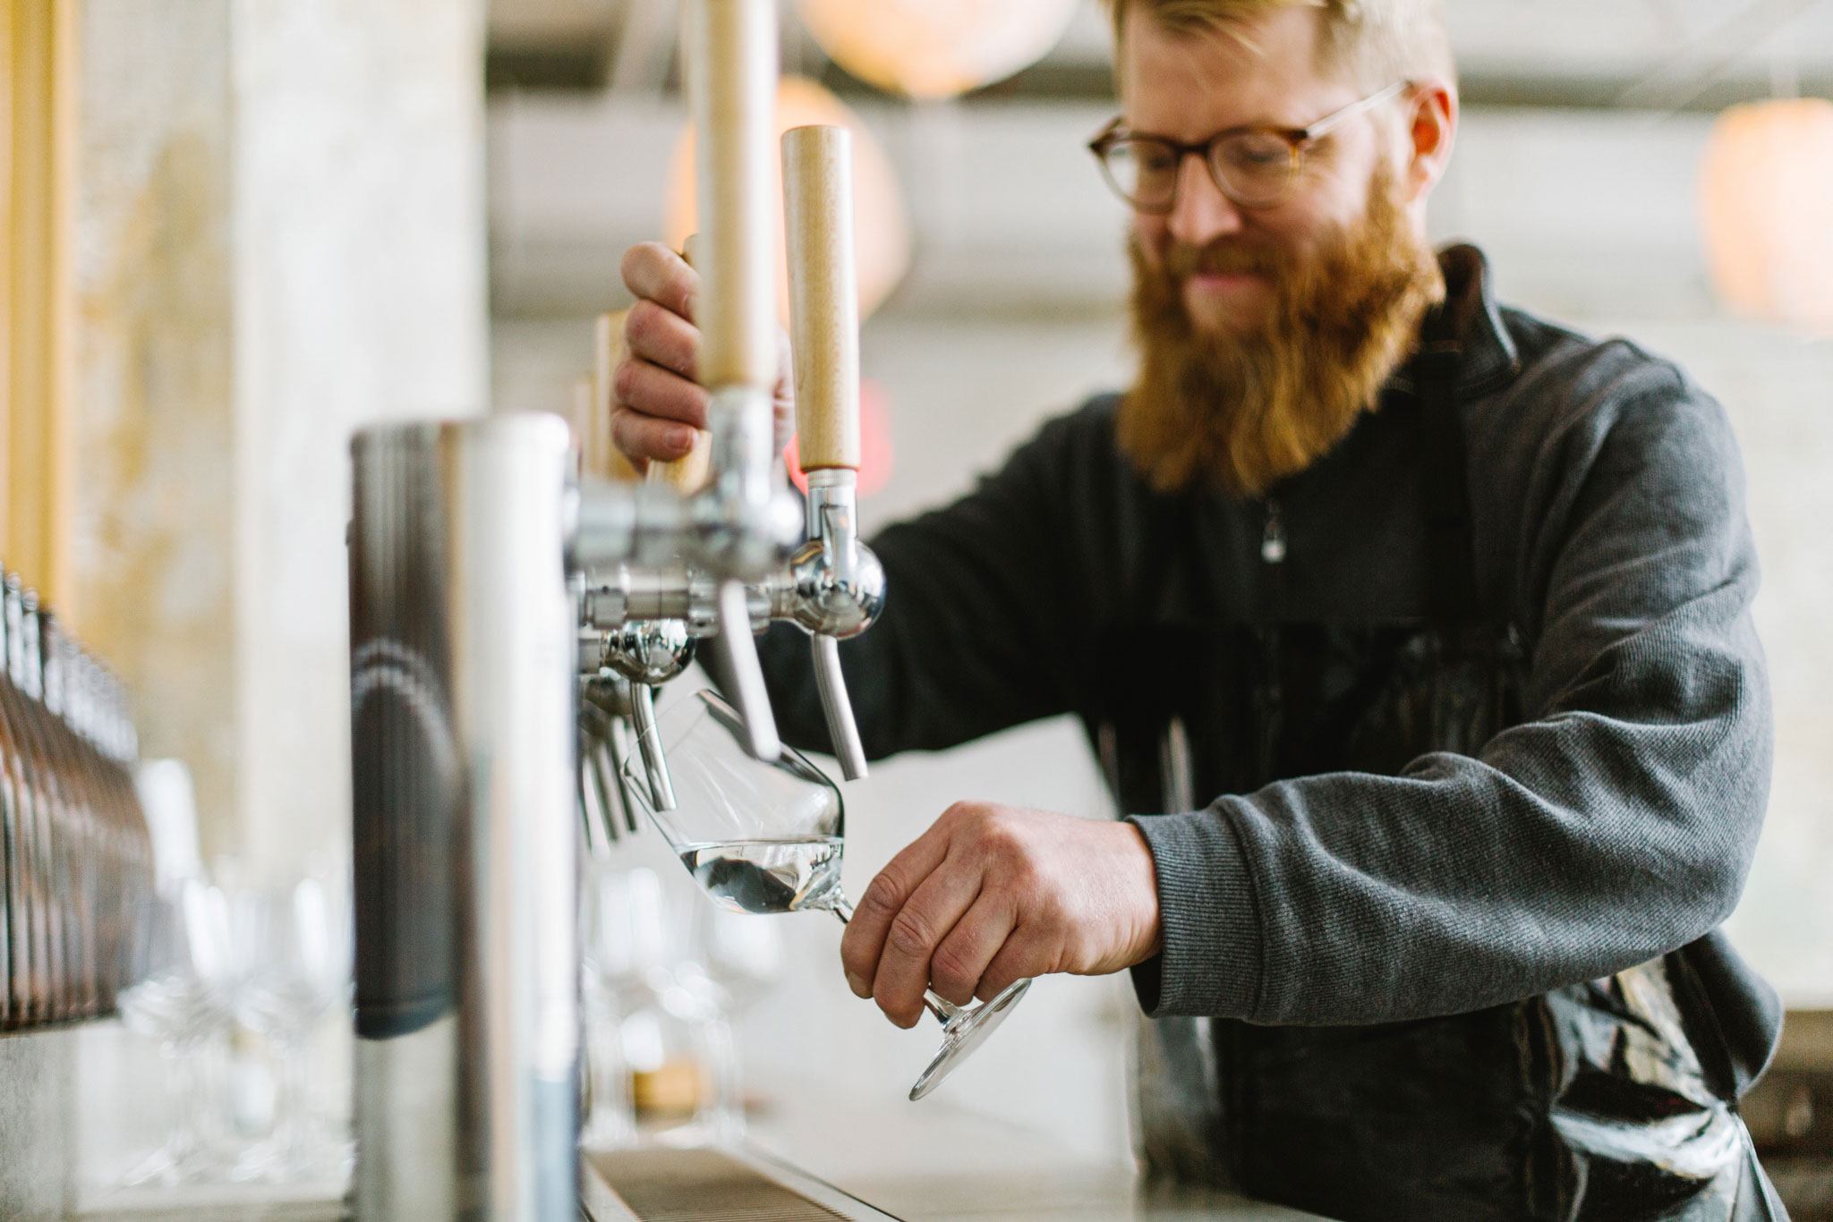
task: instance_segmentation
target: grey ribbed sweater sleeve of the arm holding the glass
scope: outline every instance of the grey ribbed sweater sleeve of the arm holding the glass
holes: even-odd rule
[[[1652,960],[1730,914],[1771,760],[1741,462],[1718,403],[1672,370],[1639,383],[1514,442],[1542,489],[1512,515],[1531,720],[1476,757],[1136,819],[1164,920],[1162,956],[1135,971],[1147,1013],[1459,1013]]]

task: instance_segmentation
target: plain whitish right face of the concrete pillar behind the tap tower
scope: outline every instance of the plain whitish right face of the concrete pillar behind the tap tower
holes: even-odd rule
[[[348,438],[488,403],[480,0],[238,0],[238,824],[348,839]]]

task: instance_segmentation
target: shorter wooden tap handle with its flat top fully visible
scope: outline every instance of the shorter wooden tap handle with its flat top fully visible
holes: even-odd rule
[[[803,471],[860,467],[860,289],[852,147],[843,126],[783,134],[783,200]]]

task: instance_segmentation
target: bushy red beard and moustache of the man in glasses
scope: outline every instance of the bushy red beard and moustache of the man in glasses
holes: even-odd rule
[[[1158,491],[1199,486],[1259,496],[1334,447],[1413,350],[1444,277],[1413,235],[1391,174],[1369,209],[1309,256],[1219,240],[1177,245],[1164,267],[1133,256],[1140,374],[1122,399],[1122,453]],[[1276,289],[1259,328],[1199,332],[1184,306],[1193,271],[1257,271]]]

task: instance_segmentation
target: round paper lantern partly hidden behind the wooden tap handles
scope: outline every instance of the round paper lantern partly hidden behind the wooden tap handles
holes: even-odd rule
[[[860,275],[860,317],[865,319],[898,286],[911,264],[911,222],[889,158],[845,103],[807,77],[783,77],[777,86],[777,136],[792,126],[843,126],[852,132],[852,244]],[[777,211],[777,315],[788,319],[788,256],[783,249],[783,163],[772,159],[772,200]],[[693,126],[675,147],[664,238],[676,251],[698,225],[693,169]]]

